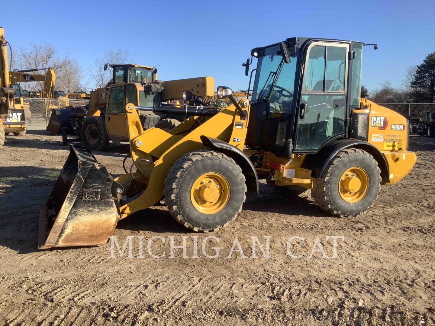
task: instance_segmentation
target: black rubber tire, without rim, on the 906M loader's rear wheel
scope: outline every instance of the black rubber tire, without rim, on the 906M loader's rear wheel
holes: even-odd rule
[[[357,166],[368,176],[368,189],[364,197],[355,203],[349,203],[340,196],[341,175],[351,167]],[[378,163],[364,150],[348,148],[339,152],[329,163],[324,177],[315,179],[311,195],[322,209],[333,215],[357,216],[373,206],[381,187],[381,170]]]

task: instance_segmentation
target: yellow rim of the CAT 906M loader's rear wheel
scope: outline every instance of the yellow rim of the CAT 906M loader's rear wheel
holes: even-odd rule
[[[364,169],[353,166],[341,175],[338,192],[348,203],[360,201],[368,190],[368,174]]]

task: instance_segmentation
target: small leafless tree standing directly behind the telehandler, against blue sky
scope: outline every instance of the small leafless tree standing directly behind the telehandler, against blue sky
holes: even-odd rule
[[[89,68],[90,79],[95,83],[95,87],[104,87],[110,81],[109,71],[104,71],[104,63],[121,64],[127,63],[130,59],[127,50],[110,49],[104,52],[104,57],[96,59],[94,66]]]

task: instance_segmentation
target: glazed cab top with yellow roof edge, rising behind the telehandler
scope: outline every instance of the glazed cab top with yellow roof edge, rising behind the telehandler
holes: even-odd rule
[[[157,70],[153,67],[138,64],[112,64],[112,80],[114,84],[121,83],[152,83],[157,79]]]

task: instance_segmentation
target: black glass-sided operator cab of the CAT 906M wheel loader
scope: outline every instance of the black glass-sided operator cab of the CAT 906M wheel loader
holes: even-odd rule
[[[358,108],[363,43],[293,37],[255,48],[255,71],[247,144],[275,155],[316,153],[346,138],[350,110]],[[252,128],[254,126],[254,128]]]

